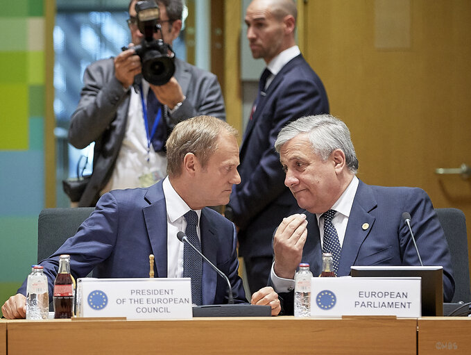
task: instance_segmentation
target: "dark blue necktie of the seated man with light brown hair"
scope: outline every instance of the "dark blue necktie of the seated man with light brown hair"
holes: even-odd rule
[[[192,245],[201,251],[201,243],[198,239],[196,226],[198,225],[198,215],[194,210],[189,210],[184,215],[187,220],[187,229],[185,233]],[[183,277],[191,278],[191,298],[193,303],[201,306],[203,296],[201,291],[201,282],[203,280],[203,258],[194,251],[187,243],[183,247]]]

